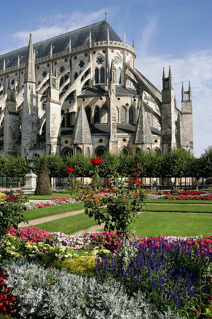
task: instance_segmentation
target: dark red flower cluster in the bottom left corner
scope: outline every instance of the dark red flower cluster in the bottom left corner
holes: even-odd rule
[[[18,300],[18,296],[13,296],[4,282],[9,275],[0,267],[0,316],[14,315],[16,313],[14,302]]]

